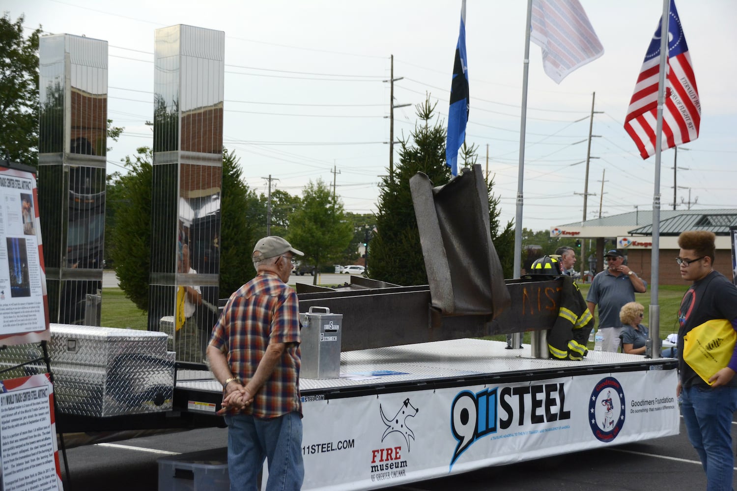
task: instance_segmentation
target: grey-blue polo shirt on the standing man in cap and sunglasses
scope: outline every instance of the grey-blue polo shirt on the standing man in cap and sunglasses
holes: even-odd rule
[[[622,325],[619,311],[625,303],[635,301],[635,287],[628,275],[615,276],[604,269],[591,282],[586,301],[598,308],[599,328],[619,328]]]

